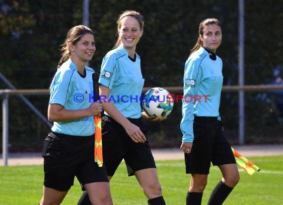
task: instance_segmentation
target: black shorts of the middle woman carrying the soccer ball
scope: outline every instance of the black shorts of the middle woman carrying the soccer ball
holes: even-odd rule
[[[146,135],[147,131],[141,118],[129,120],[139,126]],[[133,176],[134,172],[142,169],[156,168],[147,140],[144,143],[134,142],[123,126],[109,116],[103,116],[101,122],[103,163],[108,176],[114,175],[123,159],[126,162],[128,176]]]

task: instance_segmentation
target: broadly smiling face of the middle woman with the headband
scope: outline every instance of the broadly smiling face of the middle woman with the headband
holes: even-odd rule
[[[139,21],[132,16],[126,16],[121,20],[119,28],[119,36],[123,47],[129,52],[136,50],[136,46],[142,36],[143,30],[140,27]]]

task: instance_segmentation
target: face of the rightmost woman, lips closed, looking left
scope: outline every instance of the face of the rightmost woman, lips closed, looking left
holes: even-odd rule
[[[203,46],[215,53],[220,46],[222,40],[222,32],[220,26],[216,24],[208,24],[203,29],[203,34],[200,34],[200,39]]]

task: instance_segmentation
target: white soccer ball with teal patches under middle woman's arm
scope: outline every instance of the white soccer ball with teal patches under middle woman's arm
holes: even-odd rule
[[[169,92],[163,88],[151,88],[143,96],[142,109],[149,116],[168,116],[173,109],[173,100],[168,98]],[[170,97],[170,95],[169,95]]]

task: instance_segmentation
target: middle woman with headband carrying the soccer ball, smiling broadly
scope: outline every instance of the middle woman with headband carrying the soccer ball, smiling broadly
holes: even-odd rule
[[[141,103],[137,100],[114,101],[110,97],[141,96],[144,80],[141,59],[136,46],[143,33],[143,17],[133,10],[123,12],[117,21],[118,39],[115,48],[103,58],[99,78],[99,94],[103,100],[103,162],[111,180],[124,159],[128,175],[137,178],[148,199],[148,205],[165,205],[157,177],[155,162],[141,121]],[[151,119],[147,115],[144,116]],[[155,118],[152,120],[162,120]],[[90,205],[87,193],[78,205]]]

